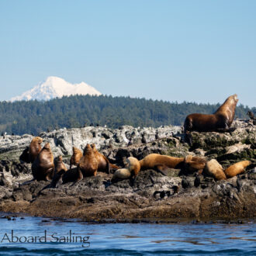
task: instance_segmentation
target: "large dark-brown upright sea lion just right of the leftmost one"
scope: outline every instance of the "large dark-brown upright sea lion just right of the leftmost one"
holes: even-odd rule
[[[50,181],[54,175],[54,155],[50,143],[44,145],[32,164],[32,174],[36,181]]]

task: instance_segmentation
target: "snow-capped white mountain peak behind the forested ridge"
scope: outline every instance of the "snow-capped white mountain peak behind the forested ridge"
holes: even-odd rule
[[[71,84],[62,78],[54,76],[48,77],[46,81],[40,82],[40,84],[33,87],[31,90],[23,92],[22,95],[13,97],[11,102],[17,100],[48,100],[64,95],[102,95],[91,85],[81,82],[80,84]]]

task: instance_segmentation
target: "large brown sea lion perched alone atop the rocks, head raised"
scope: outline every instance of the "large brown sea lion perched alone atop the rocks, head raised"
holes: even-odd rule
[[[192,130],[198,132],[228,131],[234,120],[237,102],[237,95],[234,94],[228,97],[212,115],[194,113],[187,116],[184,122],[186,140],[188,140],[189,132]]]

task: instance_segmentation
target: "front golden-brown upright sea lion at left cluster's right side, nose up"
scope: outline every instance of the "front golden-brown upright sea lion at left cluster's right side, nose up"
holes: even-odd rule
[[[98,171],[98,161],[95,157],[95,153],[92,150],[92,147],[90,144],[87,144],[83,153],[83,156],[81,157],[79,163],[78,163],[78,172],[81,172],[79,174],[79,180],[81,180],[81,175],[84,178],[85,176],[96,176]]]

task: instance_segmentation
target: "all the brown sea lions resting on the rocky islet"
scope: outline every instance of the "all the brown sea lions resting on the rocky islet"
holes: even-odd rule
[[[189,143],[192,143],[189,133],[193,130],[199,132],[229,131],[234,120],[237,102],[237,95],[231,95],[212,115],[194,113],[187,116],[185,118],[184,131]],[[149,154],[140,161],[135,157],[128,157],[126,168],[119,168],[111,164],[103,154],[100,154],[95,144],[87,144],[83,153],[77,147],[73,147],[70,169],[67,170],[62,162],[62,157],[57,157],[54,162],[50,144],[47,143],[41,148],[42,142],[42,138],[34,137],[29,147],[23,151],[20,159],[33,163],[33,180],[52,181],[52,187],[56,186],[60,178],[64,183],[78,182],[87,176],[97,175],[97,171],[104,171],[109,174],[111,169],[116,170],[112,177],[112,182],[124,178],[132,178],[134,180],[140,170],[147,169],[155,169],[166,175],[168,168],[184,169],[186,173],[197,171],[202,174],[203,172],[206,175],[213,176],[216,180],[221,180],[232,178],[244,172],[245,168],[251,164],[251,161],[240,161],[223,171],[222,166],[214,159],[206,161],[204,157],[192,155],[171,157],[161,154]],[[72,165],[75,165],[76,168],[72,169]]]

